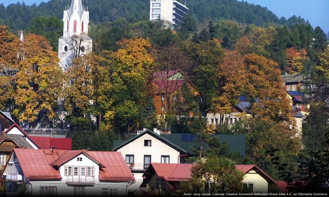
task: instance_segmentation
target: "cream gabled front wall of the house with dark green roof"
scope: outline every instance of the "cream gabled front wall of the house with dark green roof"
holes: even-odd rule
[[[144,146],[144,143],[146,143],[145,140],[151,140],[150,144],[148,144],[150,146]],[[145,156],[151,156],[150,163],[179,163],[179,155],[181,155],[178,150],[168,146],[163,141],[149,135],[148,133],[143,134],[139,138],[124,145],[116,151],[121,152],[127,165],[134,174],[136,183],[128,186],[128,194],[130,192],[134,192],[134,195],[141,195],[141,193],[138,193],[140,192],[139,186],[143,182],[142,175],[148,167],[148,165],[144,162]],[[133,156],[133,162],[131,162],[131,156]],[[134,165],[130,166],[130,163],[134,163]]]

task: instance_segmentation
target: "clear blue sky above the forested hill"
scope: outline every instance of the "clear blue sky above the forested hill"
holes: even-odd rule
[[[7,6],[10,3],[23,2],[23,0],[0,0]],[[48,0],[24,0],[25,4],[32,5]],[[248,3],[267,7],[279,18],[290,18],[292,15],[301,16],[309,20],[313,28],[320,26],[327,34],[329,32],[329,0],[247,0]]]

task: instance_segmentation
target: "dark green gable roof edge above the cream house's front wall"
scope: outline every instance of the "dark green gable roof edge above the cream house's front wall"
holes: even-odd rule
[[[175,144],[172,141],[168,140],[167,138],[163,137],[162,135],[158,135],[158,134],[154,133],[153,131],[151,131],[149,129],[146,129],[142,133],[136,135],[135,137],[132,137],[129,140],[123,141],[123,143],[121,143],[121,144],[115,143],[115,141],[114,141],[114,145],[116,145],[116,146],[112,150],[113,151],[117,151],[121,147],[129,144],[130,142],[133,142],[135,139],[137,139],[137,138],[139,138],[139,137],[141,137],[141,136],[143,136],[145,134],[149,134],[149,135],[155,137],[156,139],[158,139],[158,140],[166,143],[168,146],[171,146],[172,148],[174,148],[176,150],[179,150],[180,152],[187,153],[187,150],[186,149],[181,148],[180,146],[178,146],[177,144]]]

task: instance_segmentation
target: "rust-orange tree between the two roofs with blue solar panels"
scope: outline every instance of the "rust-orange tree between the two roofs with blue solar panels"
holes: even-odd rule
[[[291,120],[291,107],[278,63],[256,54],[245,55],[244,63],[244,92],[250,102],[252,117],[258,116],[269,121]]]

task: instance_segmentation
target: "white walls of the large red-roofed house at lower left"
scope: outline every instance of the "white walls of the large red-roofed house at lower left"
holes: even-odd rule
[[[85,154],[77,155],[59,167],[62,177],[60,180],[26,179],[24,172],[17,170],[20,169],[17,164],[19,161],[13,153],[3,174],[7,179],[7,195],[13,195],[17,191],[16,184],[19,181],[24,181],[26,192],[32,196],[125,196],[126,186],[129,185],[128,182],[100,181],[99,163]]]

